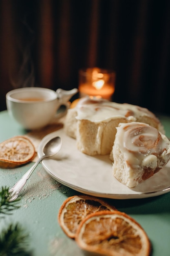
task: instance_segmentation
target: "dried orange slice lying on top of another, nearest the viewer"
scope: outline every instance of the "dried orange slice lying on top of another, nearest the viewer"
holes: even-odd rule
[[[106,256],[149,256],[150,240],[134,219],[120,211],[92,213],[80,223],[75,240],[88,252]]]

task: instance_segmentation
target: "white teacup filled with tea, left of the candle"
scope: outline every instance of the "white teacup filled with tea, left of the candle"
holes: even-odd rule
[[[47,88],[27,87],[7,92],[9,114],[26,129],[39,129],[55,117],[61,105],[68,108],[68,101],[77,89],[53,91]]]

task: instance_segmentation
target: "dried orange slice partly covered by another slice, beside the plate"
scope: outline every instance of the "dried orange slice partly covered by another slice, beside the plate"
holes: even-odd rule
[[[67,198],[58,214],[58,222],[70,238],[75,238],[79,223],[90,213],[97,211],[114,211],[115,207],[99,198],[88,195],[74,195]]]

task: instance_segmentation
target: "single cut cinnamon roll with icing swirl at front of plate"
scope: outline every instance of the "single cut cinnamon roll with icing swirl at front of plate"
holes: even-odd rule
[[[113,159],[113,175],[124,185],[135,187],[167,164],[170,141],[148,124],[119,124]]]

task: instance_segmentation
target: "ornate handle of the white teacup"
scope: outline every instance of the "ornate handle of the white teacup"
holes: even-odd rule
[[[66,112],[67,112],[67,110],[68,110],[68,108],[70,106],[68,101],[77,92],[78,92],[77,88],[74,88],[72,90],[63,90],[63,89],[59,88],[59,89],[56,90],[57,99],[58,99],[59,105],[60,105],[58,110],[57,110],[57,113],[55,115],[56,118],[61,118],[61,117],[63,117],[66,114]],[[63,106],[63,108],[61,108],[61,106]]]

